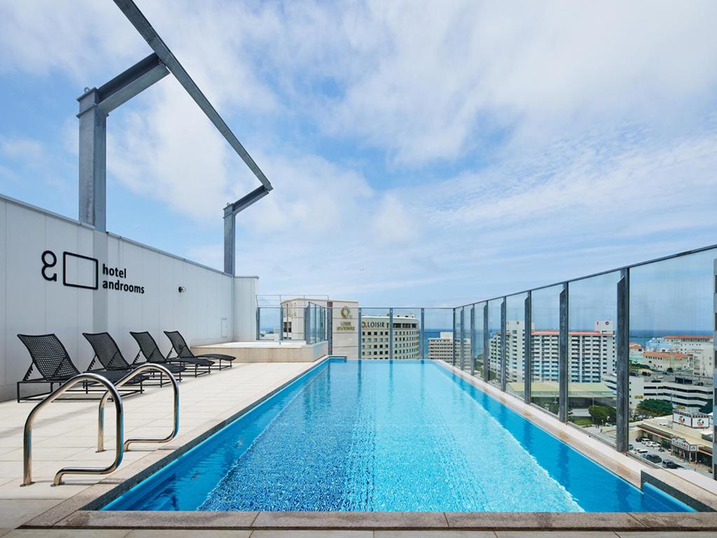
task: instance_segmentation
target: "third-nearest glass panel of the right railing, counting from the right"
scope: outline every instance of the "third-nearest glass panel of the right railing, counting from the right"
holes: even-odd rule
[[[531,293],[531,403],[558,414],[561,285]]]

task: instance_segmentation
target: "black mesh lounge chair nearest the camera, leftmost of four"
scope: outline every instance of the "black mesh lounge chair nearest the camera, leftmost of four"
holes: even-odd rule
[[[27,369],[27,373],[22,378],[22,381],[17,382],[17,401],[21,400],[41,400],[42,397],[47,396],[54,390],[54,386],[57,384],[59,387],[61,384],[67,382],[72,377],[80,374],[80,370],[77,369],[75,364],[70,359],[70,355],[67,354],[67,349],[62,345],[62,342],[54,334],[18,334],[17,337],[22,341],[27,351],[29,351],[32,362],[30,367]],[[32,370],[37,369],[37,373],[40,377],[30,379],[32,376]],[[120,379],[125,377],[130,372],[129,369],[125,370],[111,370],[106,372],[97,372],[102,377],[108,379],[112,383],[118,382]],[[132,379],[128,385],[134,387],[123,387],[120,390],[120,394],[128,396],[130,394],[137,394],[143,392],[142,382],[145,379],[143,376],[138,376],[136,379]],[[34,394],[27,397],[20,396],[20,385],[21,384],[49,384],[49,391],[42,392],[40,394]],[[90,392],[101,392],[104,393],[104,387],[98,391],[91,390],[90,384],[83,384],[84,389],[80,390],[86,395]],[[137,387],[139,385],[139,387]],[[72,390],[67,391],[73,392]],[[77,391],[75,391],[77,392]],[[74,397],[72,400],[87,400],[87,398]]]

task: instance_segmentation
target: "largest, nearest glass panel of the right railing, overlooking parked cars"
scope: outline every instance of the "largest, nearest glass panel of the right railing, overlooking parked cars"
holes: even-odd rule
[[[705,250],[630,270],[632,450],[654,463],[707,476],[712,476],[715,258],[717,249]]]

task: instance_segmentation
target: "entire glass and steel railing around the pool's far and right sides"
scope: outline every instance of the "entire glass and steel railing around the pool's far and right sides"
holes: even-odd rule
[[[457,308],[261,307],[257,326],[349,359],[442,359],[620,452],[650,438],[714,476],[716,289],[711,246]]]

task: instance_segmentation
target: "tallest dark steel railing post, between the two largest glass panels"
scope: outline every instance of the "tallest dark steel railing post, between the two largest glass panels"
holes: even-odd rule
[[[627,452],[630,433],[630,269],[620,271],[617,281],[616,425],[615,448]]]

